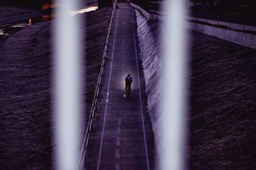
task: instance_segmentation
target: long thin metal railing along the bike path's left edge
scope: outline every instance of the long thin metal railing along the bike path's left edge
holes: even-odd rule
[[[97,86],[96,86],[96,89],[95,89],[95,94],[93,96],[92,108],[91,108],[91,111],[90,111],[90,117],[89,117],[88,124],[87,124],[87,127],[86,127],[86,132],[85,132],[85,136],[84,136],[84,140],[83,140],[83,146],[81,148],[81,154],[80,154],[80,158],[79,158],[79,169],[83,169],[83,165],[85,165],[85,167],[86,167],[86,163],[87,163],[87,161],[86,161],[87,148],[88,148],[88,145],[90,144],[90,134],[92,134],[92,131],[93,131],[93,120],[96,118],[97,103],[98,103],[99,92],[100,92],[100,85],[101,85],[101,81],[102,81],[104,64],[105,64],[105,60],[106,60],[106,54],[107,54],[107,51],[108,51],[109,36],[110,36],[110,33],[111,33],[111,27],[112,27],[112,24],[113,24],[115,10],[116,10],[116,1],[114,1],[114,3],[113,3],[113,10],[112,10],[111,19],[110,19],[109,27],[108,27],[108,35],[107,35],[107,38],[106,38],[104,52],[103,52],[103,55],[102,55],[100,73],[99,73],[99,76],[98,76],[98,81],[97,81]]]

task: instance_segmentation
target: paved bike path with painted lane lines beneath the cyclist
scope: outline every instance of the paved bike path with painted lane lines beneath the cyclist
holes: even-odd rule
[[[126,3],[118,7],[88,148],[88,169],[154,169],[154,134],[138,55],[136,15]],[[130,97],[124,90],[127,73],[133,78]]]

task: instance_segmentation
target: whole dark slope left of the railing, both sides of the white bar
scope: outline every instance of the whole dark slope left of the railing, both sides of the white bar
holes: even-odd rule
[[[97,83],[109,16],[109,8],[81,15],[87,25],[81,32],[86,42],[87,113]],[[0,39],[1,169],[53,169],[52,22],[31,25]]]

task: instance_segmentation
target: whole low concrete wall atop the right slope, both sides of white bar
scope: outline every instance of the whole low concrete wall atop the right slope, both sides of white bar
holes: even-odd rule
[[[164,15],[155,15],[155,14],[150,14],[147,11],[143,10],[140,6],[131,3],[132,8],[135,8],[136,10],[140,11],[140,13],[147,18],[147,20],[158,20],[158,21],[164,21],[166,16]],[[244,29],[248,28],[250,30],[255,29],[253,26],[248,26],[248,25],[241,25],[241,24],[232,24],[228,22],[218,22],[216,20],[206,20],[203,18],[195,18],[195,17],[188,17],[189,20],[198,20],[202,22],[208,22],[209,24],[218,24],[218,25],[225,25],[227,27],[234,27],[235,29]],[[256,35],[253,34],[247,34],[244,32],[239,32],[239,31],[233,31],[229,29],[222,29],[219,27],[214,27],[211,25],[204,25],[204,24],[198,24],[194,22],[189,22],[188,24],[188,29],[202,32],[204,34],[207,34],[209,36],[215,36],[221,39],[225,39],[227,41],[230,41],[232,43],[237,43],[239,45],[244,45],[248,46],[250,48],[256,49]]]

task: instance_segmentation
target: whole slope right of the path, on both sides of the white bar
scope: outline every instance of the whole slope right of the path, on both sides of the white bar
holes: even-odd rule
[[[156,146],[161,115],[160,23],[136,11]],[[189,169],[256,169],[256,50],[189,31]],[[171,114],[171,113],[170,113]]]

